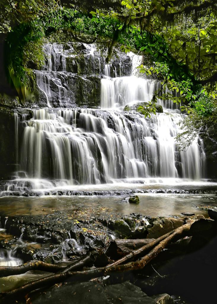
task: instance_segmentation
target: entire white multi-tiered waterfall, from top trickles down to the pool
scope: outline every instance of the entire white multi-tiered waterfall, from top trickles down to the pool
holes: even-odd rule
[[[44,50],[48,59],[44,71],[38,71],[37,83],[47,96],[49,108],[34,109],[32,119],[18,118],[15,114],[20,171],[5,184],[1,195],[133,179],[204,178],[205,153],[199,136],[186,151],[178,150],[175,139],[180,128],[178,122],[185,119],[178,105],[158,99],[164,113],[151,118],[122,111],[127,104],[149,102],[161,87],[159,81],[139,76],[136,67],[141,57],[130,54],[131,76],[111,78],[111,73],[117,76],[115,65],[104,65],[101,109],[53,109],[49,81],[56,81],[61,88],[61,81],[52,79],[52,75],[66,71],[66,58],[59,45],[47,44]],[[99,73],[104,59],[98,53],[95,58],[95,52],[94,46],[88,46],[93,73],[96,69]],[[60,89],[59,100],[65,91]],[[19,143],[18,134],[22,134]]]

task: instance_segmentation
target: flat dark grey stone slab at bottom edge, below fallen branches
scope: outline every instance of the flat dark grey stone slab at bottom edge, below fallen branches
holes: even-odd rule
[[[103,287],[98,282],[88,282],[79,284],[66,284],[59,288],[53,287],[45,293],[37,295],[32,298],[32,304],[53,304],[55,303],[101,303],[101,304],[169,304],[174,303],[167,297],[161,297],[162,301],[159,302],[160,297],[156,299],[148,297],[141,288],[124,282],[121,284],[108,285]],[[165,300],[165,301],[164,301]],[[167,302],[166,302],[167,300]]]

